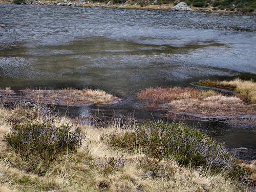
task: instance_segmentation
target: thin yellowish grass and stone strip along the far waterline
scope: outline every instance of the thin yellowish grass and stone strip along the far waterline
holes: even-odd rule
[[[66,0],[65,0],[66,1]],[[141,9],[141,10],[162,10],[162,11],[172,11],[172,8],[175,6],[174,4],[162,4],[162,5],[131,5],[131,4],[110,4],[107,5],[105,3],[93,3],[93,2],[63,2],[63,1],[35,1],[36,3],[27,3],[24,5],[59,5],[59,6],[70,6],[70,7],[103,7],[103,8],[119,8],[119,9]],[[1,4],[13,4],[12,2],[8,1],[1,1]],[[235,14],[256,14],[256,11],[252,12],[238,12],[238,11],[228,11],[228,10],[212,10],[214,7],[193,7],[190,6],[194,11],[197,12],[209,12],[209,13],[235,13]],[[174,11],[174,10],[173,10]],[[193,12],[193,11],[192,11]]]

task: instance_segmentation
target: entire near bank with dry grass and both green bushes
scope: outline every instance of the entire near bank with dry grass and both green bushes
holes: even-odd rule
[[[182,123],[121,124],[1,106],[0,191],[252,191],[256,165],[207,135]]]

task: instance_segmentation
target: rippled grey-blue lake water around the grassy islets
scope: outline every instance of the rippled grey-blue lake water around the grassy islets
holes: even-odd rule
[[[0,87],[92,88],[122,99],[59,109],[72,117],[166,120],[166,111],[146,109],[136,93],[199,80],[256,80],[254,14],[0,5],[0,26]],[[256,159],[256,125],[180,119]]]

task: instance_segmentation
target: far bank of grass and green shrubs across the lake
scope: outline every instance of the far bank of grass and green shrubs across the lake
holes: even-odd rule
[[[32,1],[32,4],[36,5],[56,5],[61,3],[62,5],[73,4],[81,7],[108,7],[108,8],[121,8],[121,9],[152,9],[152,10],[171,10],[178,1],[173,0],[134,0],[134,1],[122,1],[112,0],[111,4],[107,6],[109,0],[95,0],[95,1]],[[256,1],[255,0],[186,0],[187,3],[195,11],[207,11],[207,12],[234,12],[234,13],[256,13]],[[0,4],[12,3],[12,1],[0,1]],[[27,0],[14,0],[16,4],[31,4],[31,1]]]

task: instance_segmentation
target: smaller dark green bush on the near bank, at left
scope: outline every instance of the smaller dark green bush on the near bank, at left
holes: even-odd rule
[[[15,153],[25,159],[28,171],[45,173],[51,162],[63,151],[75,151],[84,136],[79,128],[69,125],[55,127],[49,123],[15,125],[5,140]]]

